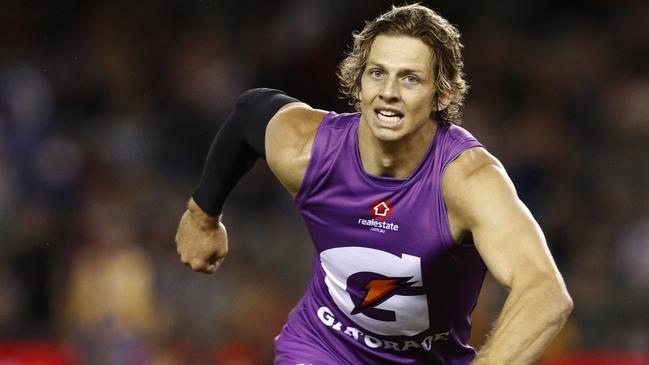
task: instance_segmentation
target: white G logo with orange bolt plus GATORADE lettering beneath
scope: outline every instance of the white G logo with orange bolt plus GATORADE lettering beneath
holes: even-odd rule
[[[450,339],[451,329],[430,328],[420,257],[347,246],[321,252],[320,265],[343,315],[320,305],[315,314],[329,329],[370,349],[397,352],[432,351],[434,343]]]

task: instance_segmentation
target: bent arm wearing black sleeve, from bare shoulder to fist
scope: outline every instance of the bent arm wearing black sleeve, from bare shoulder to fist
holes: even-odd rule
[[[193,270],[213,273],[223,261],[228,252],[220,214],[223,201],[259,157],[265,155],[291,194],[297,191],[309,160],[311,134],[324,112],[291,99],[268,89],[251,90],[215,137],[175,237],[181,261]]]

